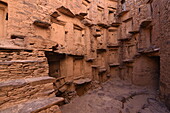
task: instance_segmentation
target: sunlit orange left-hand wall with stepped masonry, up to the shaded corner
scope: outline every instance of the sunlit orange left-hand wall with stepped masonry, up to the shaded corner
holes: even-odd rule
[[[0,7],[2,112],[41,99],[48,111],[50,98],[63,101],[55,95],[70,99],[118,77],[116,0],[1,0]]]

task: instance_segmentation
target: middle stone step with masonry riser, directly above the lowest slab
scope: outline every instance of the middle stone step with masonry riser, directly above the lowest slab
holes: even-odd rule
[[[29,99],[49,96],[54,91],[53,84],[43,84],[43,79],[41,80],[41,84],[31,79],[25,79],[25,81],[23,79],[11,80],[8,83],[1,82],[0,87],[1,108],[12,106],[14,102],[17,104]]]

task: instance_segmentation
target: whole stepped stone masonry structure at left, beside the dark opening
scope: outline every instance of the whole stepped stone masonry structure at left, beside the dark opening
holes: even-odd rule
[[[61,113],[64,98],[55,95],[45,58],[44,52],[0,41],[0,113]]]

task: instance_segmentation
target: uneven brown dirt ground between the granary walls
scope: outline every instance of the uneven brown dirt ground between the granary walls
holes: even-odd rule
[[[111,79],[61,106],[62,113],[170,113],[157,92]]]

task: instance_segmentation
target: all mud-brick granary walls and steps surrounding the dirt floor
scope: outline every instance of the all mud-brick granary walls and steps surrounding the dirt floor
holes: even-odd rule
[[[168,105],[169,15],[168,0],[1,0],[2,112],[37,101],[29,112],[60,113],[56,95],[110,77],[158,89]]]

